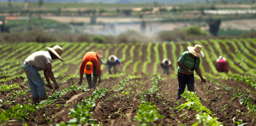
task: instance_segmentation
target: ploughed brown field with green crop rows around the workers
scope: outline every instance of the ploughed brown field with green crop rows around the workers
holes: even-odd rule
[[[202,75],[221,88],[208,89],[195,74],[195,92],[185,92],[176,101],[177,60],[187,46],[202,45]],[[60,93],[51,94],[39,106],[32,95],[22,63],[32,52],[60,45],[64,62],[54,61]],[[200,40],[186,43],[98,44],[98,43],[1,43],[0,122],[10,125],[255,125],[256,117],[256,38]],[[103,50],[104,61],[116,55],[124,65],[120,73],[108,75],[102,65],[103,82],[94,90],[87,83],[76,85],[83,54]],[[214,62],[219,55],[229,62],[228,73],[218,73]],[[157,68],[169,58],[174,70],[161,75]],[[43,72],[41,72],[43,76]],[[85,78],[85,77],[84,77]],[[21,85],[22,84],[22,85]],[[24,86],[23,86],[24,85]],[[27,88],[28,87],[28,88]],[[203,88],[203,90],[202,90]],[[204,91],[204,92],[203,92]],[[206,94],[206,96],[204,95]],[[20,105],[22,104],[22,106]],[[14,107],[15,106],[15,107]]]

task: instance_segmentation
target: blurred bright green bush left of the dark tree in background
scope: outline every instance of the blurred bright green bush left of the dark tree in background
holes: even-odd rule
[[[184,29],[187,34],[198,35],[198,36],[210,36],[210,33],[200,29],[198,25],[191,25]]]

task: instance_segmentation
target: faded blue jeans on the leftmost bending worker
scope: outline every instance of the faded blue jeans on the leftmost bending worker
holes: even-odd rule
[[[37,68],[28,64],[26,61],[23,62],[22,67],[28,78],[32,97],[47,97],[45,92],[45,82],[39,74]]]

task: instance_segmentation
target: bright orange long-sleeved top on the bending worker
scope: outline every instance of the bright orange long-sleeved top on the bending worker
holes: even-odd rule
[[[83,74],[86,63],[90,61],[93,63],[93,66],[96,67],[97,74],[100,75],[101,69],[100,69],[100,63],[98,59],[99,59],[99,56],[96,52],[86,52],[83,55],[83,61],[80,66],[80,74]]]

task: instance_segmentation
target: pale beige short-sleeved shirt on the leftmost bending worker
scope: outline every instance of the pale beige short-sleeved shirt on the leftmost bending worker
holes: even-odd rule
[[[46,69],[46,64],[52,64],[52,57],[49,51],[37,51],[26,58],[28,64],[35,66],[38,70]]]

